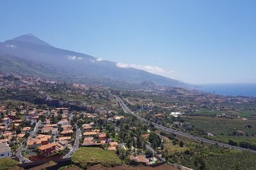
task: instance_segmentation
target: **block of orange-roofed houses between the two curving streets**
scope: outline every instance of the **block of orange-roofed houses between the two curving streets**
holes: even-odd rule
[[[52,124],[51,117],[58,117],[60,113],[61,120],[56,124]],[[47,159],[58,155],[58,153],[66,148],[72,147],[72,136],[74,132],[68,118],[70,118],[68,108],[57,108],[51,111],[50,118],[47,118],[45,122],[39,126],[38,136],[28,139],[27,153],[29,159],[34,161]]]

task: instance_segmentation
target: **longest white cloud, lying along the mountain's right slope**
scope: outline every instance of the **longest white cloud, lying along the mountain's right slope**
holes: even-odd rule
[[[170,74],[175,73],[175,71],[171,70],[171,71],[166,71],[161,67],[157,67],[157,66],[141,66],[140,64],[124,64],[121,62],[116,63],[116,67],[120,67],[120,68],[134,68],[134,69],[142,69],[144,71],[147,71],[149,73],[154,73],[154,74],[160,74],[163,76],[170,76]]]

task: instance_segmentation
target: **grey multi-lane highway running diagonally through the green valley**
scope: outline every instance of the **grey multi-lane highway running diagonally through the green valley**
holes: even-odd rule
[[[112,94],[113,95],[113,94]],[[150,124],[150,121],[146,120],[145,118],[141,118],[139,117],[138,115],[136,115],[134,112],[132,112],[127,106],[126,104],[124,103],[124,101],[122,101],[122,99],[120,99],[120,97],[117,97],[115,95],[113,95],[116,99],[116,101],[120,104],[120,106],[122,107],[122,110],[124,110],[125,113],[129,113],[131,115],[134,115],[135,117],[137,117],[139,120],[141,120],[141,122],[145,123],[145,124]],[[179,136],[183,136],[183,137],[186,137],[186,138],[190,138],[190,139],[193,139],[194,141],[202,141],[204,143],[208,143],[208,144],[211,144],[211,145],[218,145],[218,146],[221,146],[221,147],[224,147],[224,148],[234,148],[236,150],[246,150],[248,152],[253,152],[253,153],[256,153],[255,150],[248,150],[246,148],[241,148],[241,147],[238,147],[238,146],[232,146],[232,145],[228,145],[226,143],[220,143],[218,141],[212,141],[210,139],[205,139],[205,138],[201,138],[201,137],[196,137],[196,136],[193,136],[191,134],[187,134],[185,132],[180,132],[180,131],[177,131],[175,129],[172,129],[172,128],[169,128],[169,127],[164,127],[163,125],[159,125],[159,124],[155,124],[152,122],[152,124],[155,125],[155,127],[157,129],[160,129],[161,131],[165,131],[165,132],[169,132],[169,133],[172,133],[172,134],[176,134],[176,135],[179,135]]]

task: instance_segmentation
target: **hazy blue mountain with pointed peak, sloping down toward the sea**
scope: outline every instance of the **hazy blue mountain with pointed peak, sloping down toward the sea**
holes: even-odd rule
[[[17,57],[17,59],[28,61],[26,62],[27,64],[29,61],[42,62],[55,68],[61,67],[63,71],[68,70],[73,75],[84,74],[86,77],[96,79],[106,78],[113,81],[126,81],[135,84],[140,84],[143,81],[152,81],[157,85],[192,87],[192,85],[140,69],[117,67],[116,62],[56,48],[36,38],[33,34],[26,34],[0,43],[0,55]],[[60,73],[56,72],[56,74]]]

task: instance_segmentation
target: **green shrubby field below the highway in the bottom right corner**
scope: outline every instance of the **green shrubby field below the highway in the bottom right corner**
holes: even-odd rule
[[[192,169],[256,169],[256,154],[238,151],[230,148],[221,148],[217,145],[202,145],[195,141],[184,141],[184,147],[172,145],[169,139],[164,138],[163,157],[170,163],[181,164]]]

